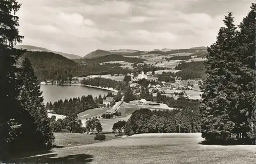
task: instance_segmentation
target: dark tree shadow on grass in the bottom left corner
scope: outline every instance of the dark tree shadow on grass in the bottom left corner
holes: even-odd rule
[[[89,154],[75,154],[63,157],[56,157],[57,154],[48,154],[42,156],[26,157],[22,159],[15,159],[5,161],[4,163],[90,163],[93,161],[93,155]]]

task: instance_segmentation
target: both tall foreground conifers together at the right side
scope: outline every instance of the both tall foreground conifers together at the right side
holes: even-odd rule
[[[208,47],[200,107],[208,143],[255,144],[255,19],[252,4],[239,32],[229,13],[217,42]]]

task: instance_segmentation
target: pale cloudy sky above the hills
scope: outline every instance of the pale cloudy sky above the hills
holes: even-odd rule
[[[73,53],[190,48],[215,42],[228,12],[236,24],[256,0],[19,0],[23,44]]]

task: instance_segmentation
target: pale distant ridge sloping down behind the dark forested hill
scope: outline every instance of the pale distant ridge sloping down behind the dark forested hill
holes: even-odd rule
[[[58,52],[58,51],[53,51],[47,48],[42,48],[42,47],[36,47],[36,46],[32,46],[32,45],[16,45],[16,48],[20,49],[27,49],[30,51],[45,51],[45,52],[53,52],[53,53],[57,53],[60,54],[61,56],[68,58],[68,59],[80,59],[80,56],[77,56],[75,54],[68,54],[68,53],[63,53],[63,52]]]

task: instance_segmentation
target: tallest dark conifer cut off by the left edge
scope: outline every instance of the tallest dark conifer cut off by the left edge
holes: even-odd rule
[[[24,50],[15,49],[16,43],[21,43],[23,36],[19,35],[18,17],[15,16],[20,4],[15,0],[0,1],[0,160],[8,153],[10,143],[18,135],[15,130],[20,127],[17,118],[22,113],[18,102],[19,80],[16,79],[17,60]]]

